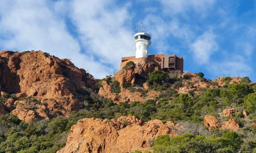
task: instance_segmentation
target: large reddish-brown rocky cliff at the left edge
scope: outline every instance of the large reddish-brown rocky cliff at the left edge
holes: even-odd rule
[[[17,98],[25,95],[35,97],[41,103],[46,103],[49,111],[56,110],[68,116],[71,111],[78,110],[83,100],[81,87],[93,84],[95,80],[84,69],[78,69],[67,59],[61,60],[41,51],[25,54],[0,52],[0,90],[17,93]],[[13,109],[12,103],[9,101],[5,105],[8,111]],[[20,111],[28,114],[19,106],[13,110],[13,114]],[[37,116],[39,113],[35,114]]]

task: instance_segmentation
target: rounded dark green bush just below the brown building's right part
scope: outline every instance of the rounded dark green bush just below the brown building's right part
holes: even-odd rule
[[[169,75],[164,71],[155,70],[149,74],[149,81],[162,84],[162,81],[166,81]]]

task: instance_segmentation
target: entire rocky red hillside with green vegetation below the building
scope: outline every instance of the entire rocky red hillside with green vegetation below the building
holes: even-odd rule
[[[97,80],[41,51],[0,52],[0,152],[255,152],[248,77],[159,71],[136,59]]]

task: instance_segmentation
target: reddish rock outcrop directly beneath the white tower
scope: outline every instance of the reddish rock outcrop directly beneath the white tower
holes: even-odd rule
[[[145,90],[149,90],[147,83],[143,82],[143,78],[147,77],[151,72],[155,70],[154,63],[150,62],[146,58],[134,59],[133,62],[135,63],[135,67],[119,70],[113,76],[113,78],[115,78],[120,84],[120,93],[113,93],[111,91],[110,85],[107,84],[106,81],[102,81],[101,87],[99,89],[99,95],[103,96],[104,98],[111,99],[115,103],[129,103],[134,101],[145,102],[146,95],[143,95],[141,92],[130,92],[129,89],[123,87],[123,84],[130,82],[131,86],[138,84]],[[155,93],[155,95],[159,94],[160,93]],[[154,99],[152,97],[152,92],[150,92],[147,96],[149,96],[148,99]]]

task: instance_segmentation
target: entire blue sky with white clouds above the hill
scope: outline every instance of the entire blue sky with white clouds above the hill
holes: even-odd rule
[[[1,0],[0,50],[42,50],[95,78],[135,56],[133,29],[152,35],[150,54],[176,54],[184,70],[256,81],[254,0]]]

